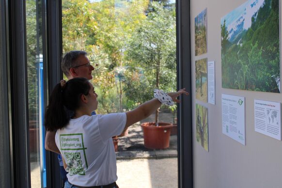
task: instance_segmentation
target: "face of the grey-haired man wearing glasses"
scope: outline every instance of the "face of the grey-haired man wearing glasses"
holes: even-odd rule
[[[94,70],[94,67],[89,64],[89,59],[85,55],[80,55],[77,59],[78,65],[76,67],[73,67],[76,72],[76,76],[74,78],[86,78],[86,79],[92,79],[92,71]]]

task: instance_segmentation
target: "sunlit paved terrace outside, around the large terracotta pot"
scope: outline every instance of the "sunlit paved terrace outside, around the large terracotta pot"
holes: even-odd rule
[[[142,122],[154,119],[151,115]],[[171,123],[172,115],[160,113],[159,120]],[[177,188],[177,136],[171,135],[169,148],[147,149],[141,123],[130,126],[128,136],[119,138],[117,184],[120,188]]]

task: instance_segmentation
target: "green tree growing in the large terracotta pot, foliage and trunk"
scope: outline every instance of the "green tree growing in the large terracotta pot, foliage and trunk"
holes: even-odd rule
[[[126,53],[131,67],[141,67],[142,76],[136,81],[127,80],[124,90],[129,101],[148,100],[154,88],[172,91],[176,88],[176,38],[175,17],[158,2],[151,2],[154,12],[150,12],[142,26],[133,34]],[[140,86],[140,82],[148,84]],[[149,84],[150,83],[150,84]],[[144,86],[144,85],[143,85]],[[131,95],[136,89],[139,94]],[[134,103],[134,102],[133,102]],[[156,123],[158,123],[158,110]]]

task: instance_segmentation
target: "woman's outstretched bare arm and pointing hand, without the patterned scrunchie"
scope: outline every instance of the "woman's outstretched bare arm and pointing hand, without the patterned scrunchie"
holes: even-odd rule
[[[169,93],[168,95],[172,97],[172,101],[179,103],[180,100],[178,100],[176,97],[178,97],[180,94],[188,95],[189,93],[186,92],[184,88],[182,90],[179,90],[178,92]],[[141,104],[139,107],[137,107],[134,110],[126,112],[125,129],[130,125],[133,125],[141,121],[142,119],[145,119],[146,117],[154,113],[160,106],[161,106],[161,102],[159,102],[155,98]]]

